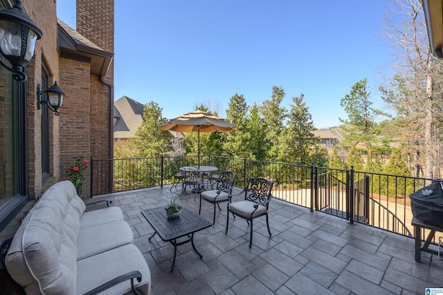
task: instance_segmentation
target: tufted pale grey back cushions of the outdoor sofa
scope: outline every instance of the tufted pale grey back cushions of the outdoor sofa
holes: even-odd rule
[[[75,294],[84,209],[73,184],[61,181],[26,215],[6,255],[6,267],[27,294]]]

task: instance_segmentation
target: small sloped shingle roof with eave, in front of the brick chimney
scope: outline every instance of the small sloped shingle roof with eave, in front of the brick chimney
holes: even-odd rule
[[[57,29],[61,57],[71,55],[84,57],[85,62],[91,63],[91,73],[94,75],[107,73],[114,53],[104,51],[60,19],[57,19]]]

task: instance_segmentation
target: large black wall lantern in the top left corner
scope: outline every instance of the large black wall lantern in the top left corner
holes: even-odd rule
[[[35,41],[40,38],[42,30],[26,15],[21,0],[16,0],[12,8],[0,10],[0,53],[12,67],[2,59],[0,64],[12,71],[15,80],[26,81],[24,67],[33,58]]]

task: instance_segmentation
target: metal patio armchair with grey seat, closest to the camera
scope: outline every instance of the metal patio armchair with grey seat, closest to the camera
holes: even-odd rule
[[[232,202],[234,195],[228,196],[228,214],[226,220],[226,231],[228,233],[229,226],[229,213],[235,216],[242,217],[251,226],[251,238],[249,239],[249,249],[252,247],[252,234],[253,234],[253,220],[257,217],[266,215],[266,226],[268,228],[269,236],[271,236],[271,230],[269,229],[268,209],[269,202],[272,199],[271,190],[273,182],[264,178],[250,178],[248,179],[247,186],[237,195],[244,194],[244,200],[239,202]]]

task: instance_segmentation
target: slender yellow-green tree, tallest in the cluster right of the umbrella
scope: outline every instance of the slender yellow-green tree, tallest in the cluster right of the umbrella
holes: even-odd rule
[[[280,134],[284,129],[284,121],[287,118],[287,109],[280,107],[284,96],[285,93],[282,87],[273,86],[271,100],[264,100],[260,108],[267,127],[266,138],[271,144],[266,157],[269,161],[278,159],[278,154],[282,152]]]

